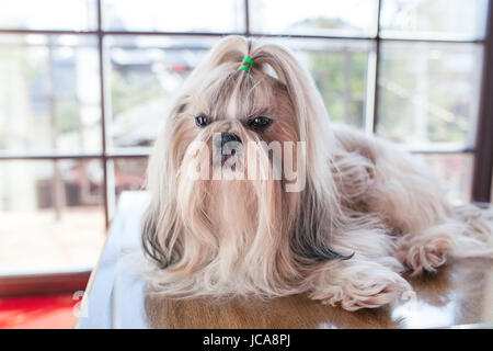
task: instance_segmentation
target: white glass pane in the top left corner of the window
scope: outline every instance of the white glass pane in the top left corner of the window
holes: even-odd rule
[[[2,1],[0,27],[12,30],[94,31],[95,0]]]

